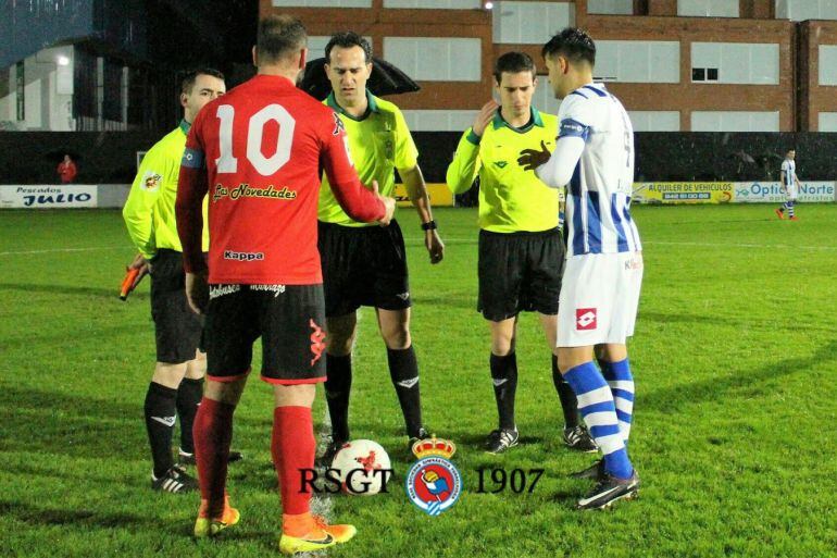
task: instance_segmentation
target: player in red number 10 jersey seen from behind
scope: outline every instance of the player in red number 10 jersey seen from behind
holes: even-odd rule
[[[201,506],[195,535],[239,512],[226,494],[233,413],[262,338],[262,380],[274,387],[271,452],[279,479],[279,550],[318,550],[354,536],[310,511],[300,474],[314,464],[311,406],[325,380],[322,272],[316,249],[320,173],[354,220],[387,224],[395,199],[363,187],[336,114],[296,87],[307,34],[289,16],[259,24],[258,75],[210,103],[186,144],[177,193],[189,303],[205,313],[207,389],[195,419]],[[211,186],[211,187],[210,187]],[[201,201],[209,191],[209,262]]]

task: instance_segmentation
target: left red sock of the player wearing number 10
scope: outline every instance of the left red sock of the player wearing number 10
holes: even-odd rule
[[[224,511],[229,443],[233,439],[234,405],[205,397],[195,416],[195,457],[198,461],[200,497],[209,501],[210,517]]]

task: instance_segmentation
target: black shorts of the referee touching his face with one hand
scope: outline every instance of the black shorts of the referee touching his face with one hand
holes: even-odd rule
[[[558,228],[538,233],[479,231],[477,310],[495,322],[521,311],[557,314],[565,252]]]

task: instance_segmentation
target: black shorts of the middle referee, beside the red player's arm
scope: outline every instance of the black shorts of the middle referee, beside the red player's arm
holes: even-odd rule
[[[401,227],[318,224],[325,315],[351,313],[361,306],[410,308],[407,251]]]

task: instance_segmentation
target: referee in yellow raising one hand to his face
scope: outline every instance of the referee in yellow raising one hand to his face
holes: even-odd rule
[[[564,266],[564,240],[558,228],[559,194],[517,158],[541,144],[554,148],[558,119],[532,107],[537,86],[535,63],[523,52],[508,52],[495,64],[495,90],[501,104],[488,101],[465,131],[448,168],[453,194],[471,188],[479,175],[479,296],[477,310],[491,328],[490,370],[499,414],[486,450],[500,454],[517,445],[514,397],[517,388],[515,338],[521,311],[537,311],[552,351],[552,381],[564,411],[567,446],[595,451],[578,419],[572,388],[558,371],[558,296]]]

